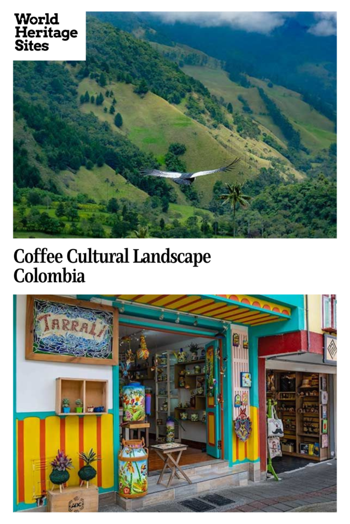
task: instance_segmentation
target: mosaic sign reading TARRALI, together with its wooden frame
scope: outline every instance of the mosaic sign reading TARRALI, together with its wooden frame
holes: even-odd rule
[[[27,296],[26,358],[118,363],[118,310],[50,295]]]

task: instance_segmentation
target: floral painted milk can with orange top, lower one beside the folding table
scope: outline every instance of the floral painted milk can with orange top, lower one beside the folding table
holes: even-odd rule
[[[149,450],[142,440],[124,440],[119,452],[119,495],[123,498],[147,494],[147,461]]]

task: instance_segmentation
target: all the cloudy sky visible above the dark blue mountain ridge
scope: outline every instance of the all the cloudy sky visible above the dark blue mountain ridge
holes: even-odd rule
[[[180,21],[203,27],[230,25],[235,29],[263,34],[269,34],[273,29],[283,26],[285,20],[297,15],[297,13],[287,12],[162,12],[153,14],[167,24],[174,24],[176,21]],[[314,23],[309,28],[309,32],[313,35],[336,35],[335,12],[317,12],[313,14],[313,18]]]

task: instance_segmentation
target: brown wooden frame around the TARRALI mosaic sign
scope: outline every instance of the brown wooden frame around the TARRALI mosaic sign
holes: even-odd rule
[[[79,308],[109,311],[113,313],[112,358],[93,358],[53,353],[35,353],[34,345],[34,300],[48,300],[59,304],[74,305]],[[117,366],[119,354],[119,311],[110,305],[96,304],[72,298],[58,297],[56,295],[27,295],[26,308],[26,359],[48,362],[70,362],[72,364],[99,364],[104,366]]]

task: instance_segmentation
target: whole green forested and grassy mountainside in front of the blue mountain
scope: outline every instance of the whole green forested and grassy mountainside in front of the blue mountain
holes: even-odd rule
[[[238,205],[237,236],[336,235],[326,117],[313,108],[307,128],[298,93],[242,86],[131,15],[125,28],[89,16],[85,62],[14,62],[15,236],[231,237],[227,182],[253,197]],[[140,174],[235,157],[235,171],[189,187]]]

